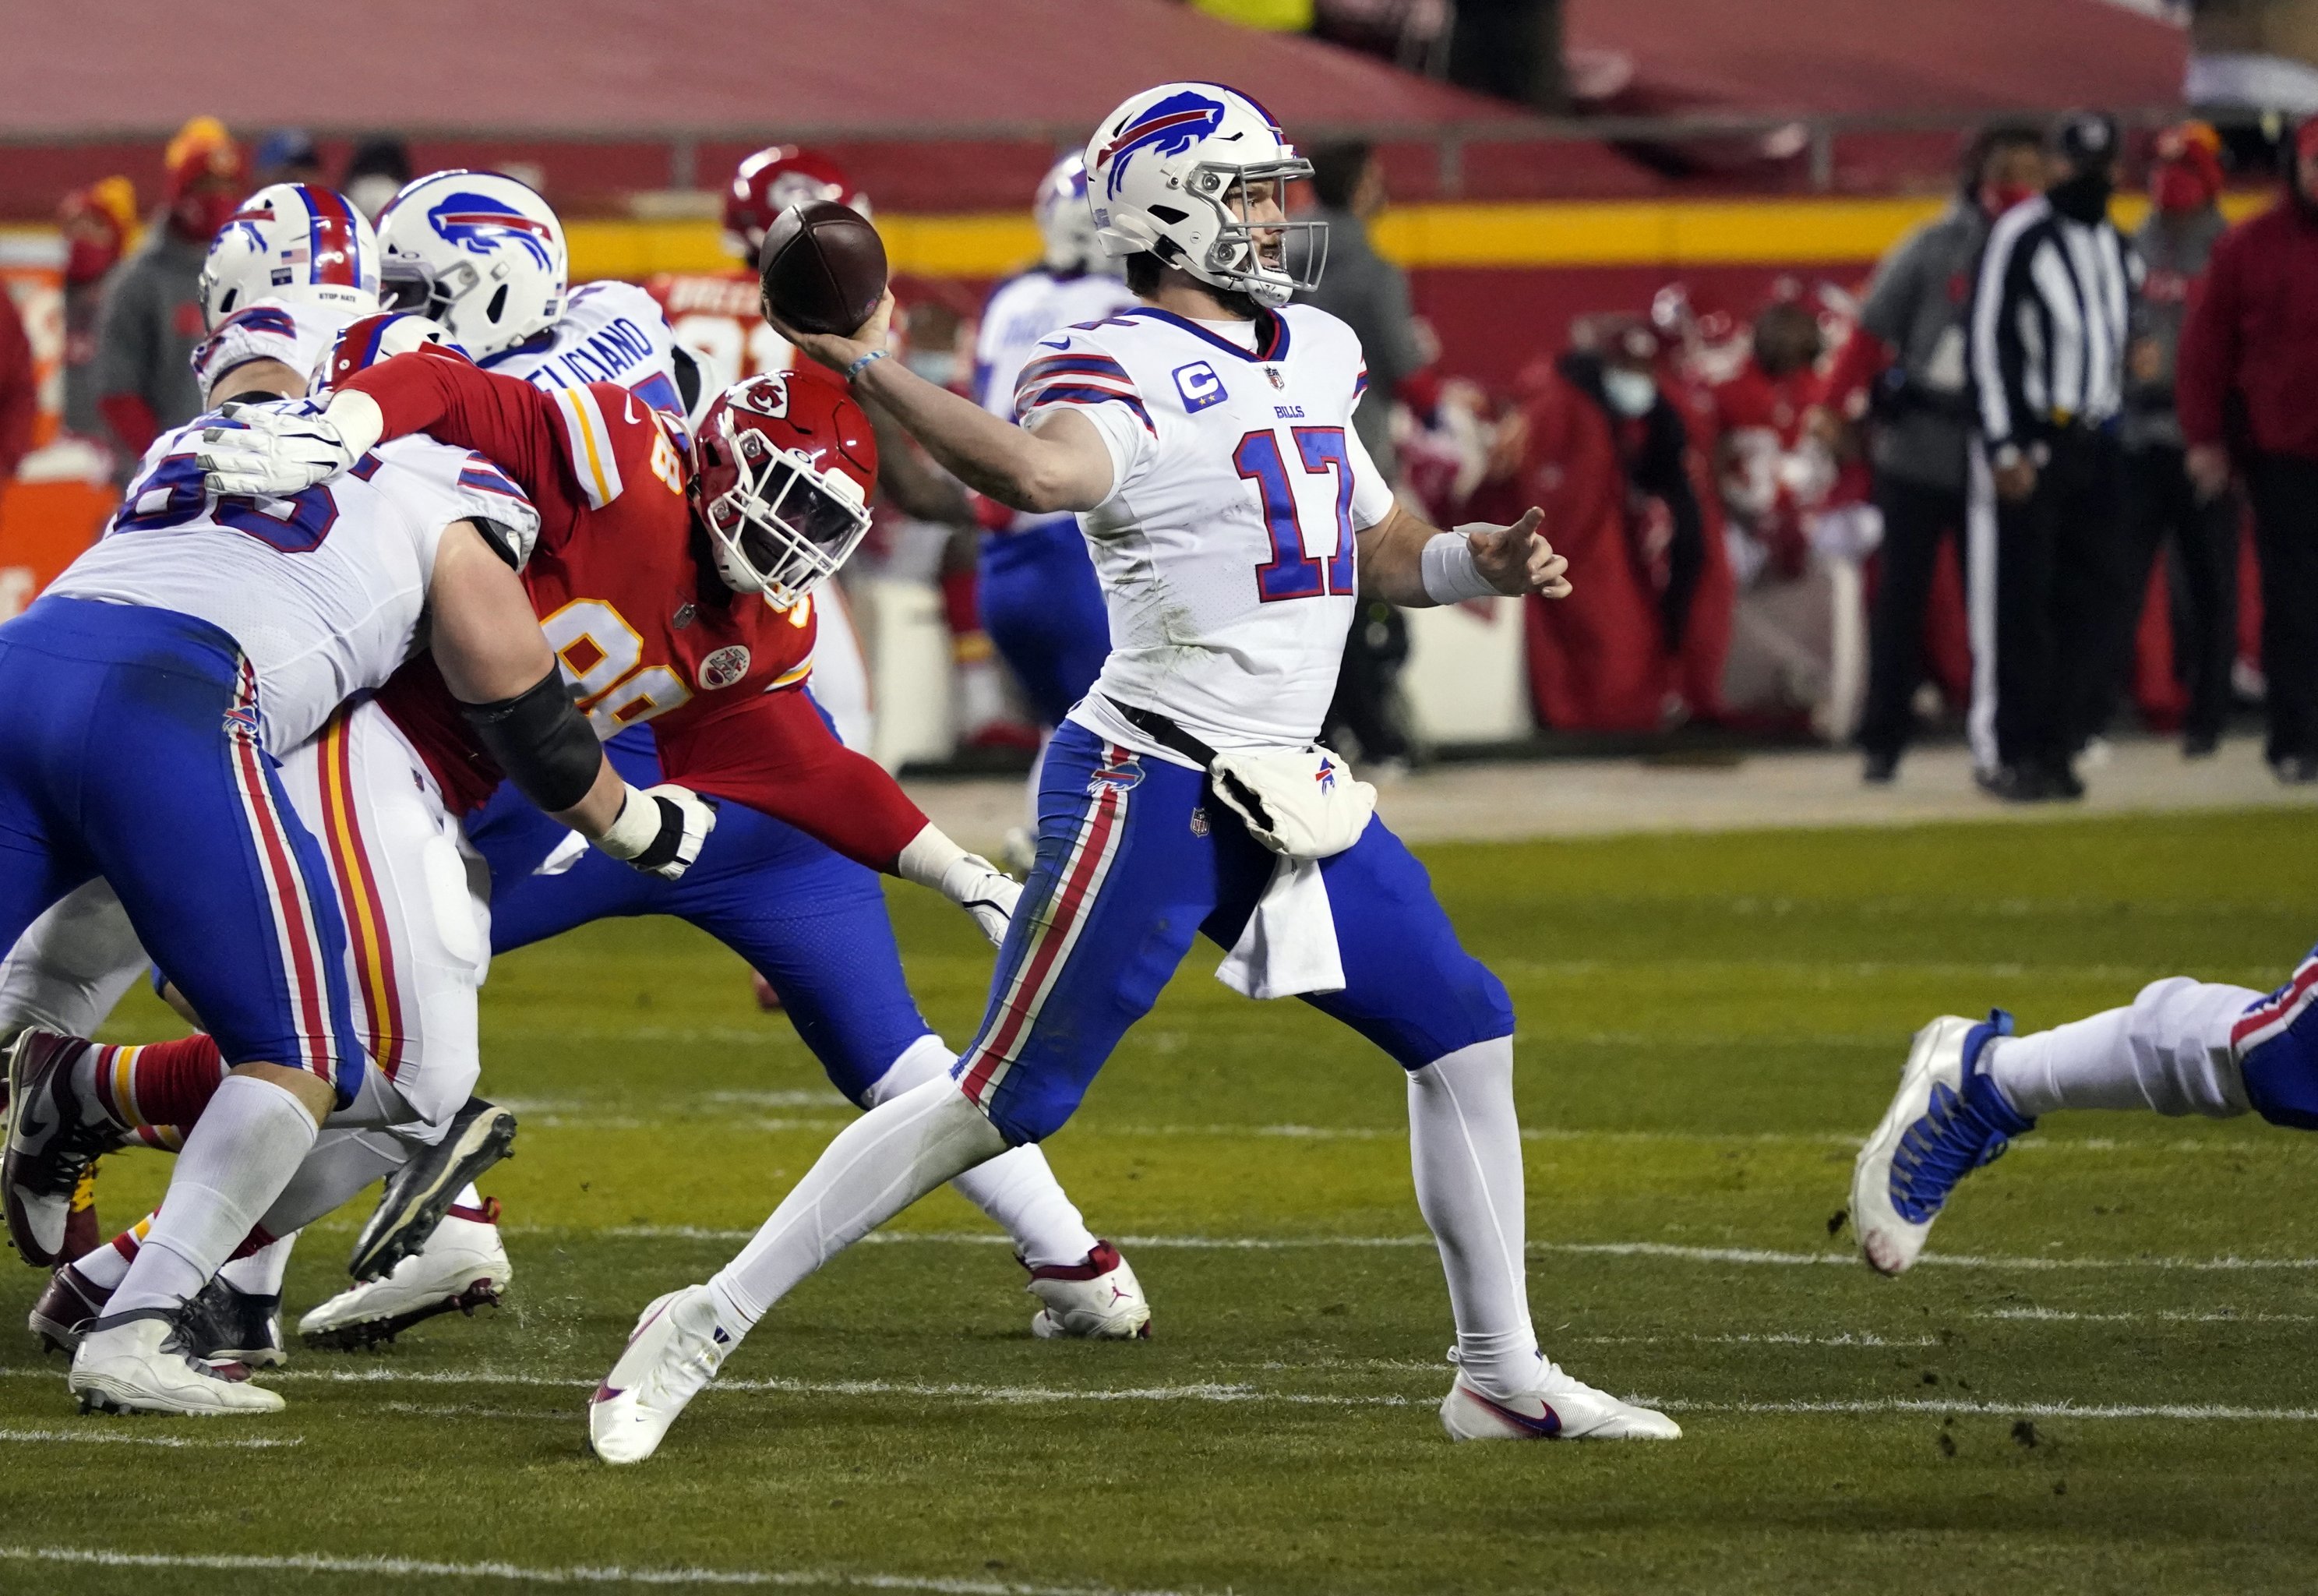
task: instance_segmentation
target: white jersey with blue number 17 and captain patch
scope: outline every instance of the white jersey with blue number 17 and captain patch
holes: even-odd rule
[[[1106,701],[1217,749],[1319,735],[1351,631],[1354,534],[1393,508],[1351,429],[1365,385],[1351,327],[1303,304],[1254,322],[1134,306],[1038,343],[1018,413],[1078,408],[1115,469],[1078,517],[1110,656],[1073,721],[1161,759]]]

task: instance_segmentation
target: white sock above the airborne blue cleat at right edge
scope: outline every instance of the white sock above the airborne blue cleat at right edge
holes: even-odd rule
[[[2033,1037],[1998,1037],[1984,1067],[2014,1109],[2153,1109],[2246,1113],[2246,1083],[2230,1025],[2260,993],[2186,977],[2151,981],[2126,1009],[2109,1009]]]

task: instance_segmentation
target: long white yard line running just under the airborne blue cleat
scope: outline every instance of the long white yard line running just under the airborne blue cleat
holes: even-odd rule
[[[628,1241],[746,1241],[756,1229],[716,1229],[705,1225],[510,1225],[512,1236],[619,1236]],[[862,1241],[874,1246],[1011,1246],[1001,1234],[955,1229],[879,1229]],[[1115,1236],[1120,1248],[1180,1253],[1300,1253],[1312,1248],[1430,1248],[1433,1236]],[[1711,1248],[1674,1241],[1532,1241],[1532,1253],[1569,1257],[1664,1257],[1683,1264],[1743,1267],[1817,1267],[1864,1269],[1859,1255],[1789,1253],[1778,1248]],[[2040,1257],[1996,1253],[1924,1253],[1919,1269],[2163,1269],[2188,1274],[2244,1274],[2269,1269],[2318,1269],[2318,1257]]]

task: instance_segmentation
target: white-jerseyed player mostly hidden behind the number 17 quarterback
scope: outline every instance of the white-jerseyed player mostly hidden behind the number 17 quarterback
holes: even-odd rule
[[[974,346],[974,399],[1013,420],[1013,390],[1038,339],[1057,327],[1092,322],[1136,302],[1117,267],[1094,241],[1087,162],[1071,151],[1038,181],[1034,206],[1045,257],[990,290]],[[1103,589],[1071,515],[1006,510],[981,543],[978,596],[983,631],[1022,684],[1045,731],[1094,687],[1110,652]],[[1032,824],[1038,819],[1038,770],[1029,775]],[[1008,840],[1029,856],[1029,833]]]

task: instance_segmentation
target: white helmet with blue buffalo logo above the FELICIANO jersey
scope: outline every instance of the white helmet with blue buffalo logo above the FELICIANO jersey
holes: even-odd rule
[[[429,315],[484,360],[563,315],[570,251],[563,223],[529,186],[498,172],[431,172],[378,213],[392,311]]]

